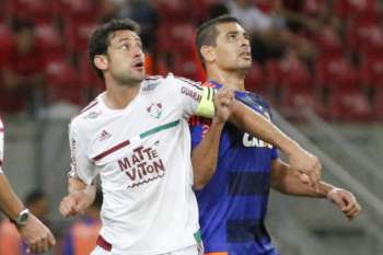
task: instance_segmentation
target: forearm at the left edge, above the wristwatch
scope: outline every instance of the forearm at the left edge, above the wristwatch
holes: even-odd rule
[[[24,209],[24,205],[14,194],[4,174],[0,174],[0,208],[10,219],[15,219]]]

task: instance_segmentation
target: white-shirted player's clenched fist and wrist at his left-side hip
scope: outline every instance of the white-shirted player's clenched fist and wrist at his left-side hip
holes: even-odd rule
[[[84,213],[96,194],[95,185],[86,185],[80,178],[68,178],[68,195],[60,202],[60,213],[65,217]]]

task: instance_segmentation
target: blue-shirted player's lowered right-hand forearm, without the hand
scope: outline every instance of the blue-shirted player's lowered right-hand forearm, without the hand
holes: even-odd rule
[[[280,160],[272,162],[271,188],[287,195],[325,198],[333,185],[320,182],[318,190],[302,183],[288,164]]]

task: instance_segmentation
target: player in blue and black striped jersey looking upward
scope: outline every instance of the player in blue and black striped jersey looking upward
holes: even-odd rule
[[[207,85],[232,86],[237,101],[271,120],[268,104],[244,88],[252,57],[249,37],[239,21],[224,15],[206,22],[197,32],[196,43],[207,70]],[[265,227],[269,188],[295,196],[327,197],[348,219],[359,213],[360,206],[351,193],[324,182],[313,188],[304,182],[305,174],[297,175],[278,158],[274,146],[230,123],[222,131],[219,151],[211,154],[213,162],[218,158],[216,169],[206,157],[208,144],[202,140],[209,127],[209,119],[190,120],[194,166],[214,169],[209,171],[212,177],[206,185],[195,183],[207,255],[278,254]]]

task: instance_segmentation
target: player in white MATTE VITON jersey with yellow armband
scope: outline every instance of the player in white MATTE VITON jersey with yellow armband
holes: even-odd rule
[[[89,54],[106,91],[71,120],[69,194],[60,212],[90,206],[100,174],[102,229],[92,255],[197,255],[187,120],[194,114],[212,118],[218,136],[208,140],[218,143],[233,91],[216,93],[172,74],[144,78],[138,25],[128,19],[96,28]]]

